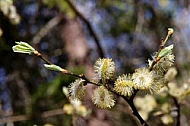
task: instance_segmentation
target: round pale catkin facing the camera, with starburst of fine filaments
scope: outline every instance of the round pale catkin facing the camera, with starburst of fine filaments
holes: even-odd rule
[[[154,76],[152,72],[144,67],[135,70],[132,80],[139,90],[149,90],[154,83]]]

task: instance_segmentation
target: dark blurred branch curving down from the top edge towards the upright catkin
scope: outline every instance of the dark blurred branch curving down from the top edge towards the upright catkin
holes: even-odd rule
[[[69,6],[74,11],[74,13],[78,17],[80,17],[86,23],[87,28],[89,29],[90,34],[92,35],[92,37],[94,38],[94,40],[96,42],[96,45],[98,47],[98,51],[99,51],[100,57],[101,58],[105,57],[103,49],[102,49],[102,47],[100,45],[100,41],[98,39],[98,36],[96,35],[96,33],[94,32],[94,30],[92,29],[92,26],[91,26],[90,22],[86,19],[86,17],[81,12],[79,12],[79,10],[76,8],[76,6],[70,0],[65,0],[65,1],[69,4]]]

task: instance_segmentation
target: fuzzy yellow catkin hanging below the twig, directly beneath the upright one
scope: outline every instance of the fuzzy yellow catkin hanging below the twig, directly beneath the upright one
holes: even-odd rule
[[[94,89],[92,101],[99,108],[111,108],[115,105],[114,96],[104,86]]]

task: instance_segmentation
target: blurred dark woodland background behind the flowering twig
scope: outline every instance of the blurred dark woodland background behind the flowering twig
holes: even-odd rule
[[[167,44],[174,44],[180,84],[190,70],[189,0],[0,0],[0,125],[138,125],[122,99],[113,109],[96,108],[89,97],[93,86],[83,100],[91,113],[67,115],[62,87],[75,78],[46,70],[42,60],[13,53],[12,46],[28,42],[51,62],[88,78],[94,62],[109,57],[121,75],[146,66],[169,27],[175,32]],[[184,110],[185,126],[190,110]],[[153,116],[148,123],[162,124]]]

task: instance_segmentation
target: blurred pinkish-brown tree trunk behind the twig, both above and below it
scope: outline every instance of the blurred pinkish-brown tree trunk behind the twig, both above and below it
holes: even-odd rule
[[[74,18],[64,18],[61,22],[61,37],[63,39],[65,50],[68,55],[68,66],[84,67],[85,76],[88,78],[93,77],[93,65],[89,57],[89,49],[85,34],[82,30],[80,22]],[[73,124],[76,126],[108,126],[110,125],[106,118],[106,110],[101,110],[92,104],[91,95],[94,86],[88,85],[84,104],[87,108],[92,109],[91,117],[87,119],[74,118]],[[84,121],[85,120],[85,121]]]

